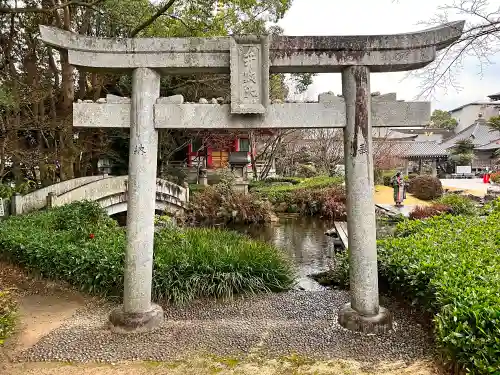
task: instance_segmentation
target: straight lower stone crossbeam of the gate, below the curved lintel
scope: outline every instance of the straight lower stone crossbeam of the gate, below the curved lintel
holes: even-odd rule
[[[430,117],[429,102],[374,101],[374,127],[421,126]],[[162,128],[340,128],[345,126],[344,99],[321,103],[275,103],[259,117],[231,115],[229,105],[155,105],[155,127]],[[130,105],[75,103],[73,125],[77,127],[122,127],[130,125]]]

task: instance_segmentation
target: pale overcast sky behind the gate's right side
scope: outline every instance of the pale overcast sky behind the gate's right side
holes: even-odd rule
[[[495,2],[496,0],[493,0]],[[429,20],[439,5],[452,0],[294,0],[285,18],[279,22],[286,35],[353,35],[394,34],[427,28],[418,25]],[[455,16],[453,19],[463,19]],[[482,76],[477,60],[469,58],[458,78],[462,87],[439,90],[432,99],[433,109],[450,110],[468,102],[486,100],[500,91],[500,56],[497,64],[483,67]],[[371,75],[372,91],[397,92],[399,99],[412,100],[418,95],[419,82],[402,79],[404,73]],[[340,74],[320,74],[314,79],[306,96],[315,98],[321,92],[341,92]]]

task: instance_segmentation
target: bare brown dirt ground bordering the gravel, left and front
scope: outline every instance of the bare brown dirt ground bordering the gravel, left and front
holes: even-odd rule
[[[13,356],[35,344],[59,327],[91,298],[68,286],[28,277],[19,268],[0,263],[0,287],[15,292],[20,303],[16,334],[0,347],[2,375],[345,375],[345,374],[442,374],[430,362],[384,363],[365,369],[357,362],[343,360],[314,361],[300,355],[263,360],[248,356],[245,360],[198,357],[187,361],[116,364],[13,363]]]

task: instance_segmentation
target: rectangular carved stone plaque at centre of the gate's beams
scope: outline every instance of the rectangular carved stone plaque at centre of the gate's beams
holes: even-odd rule
[[[269,38],[231,38],[231,113],[266,112],[269,103]]]

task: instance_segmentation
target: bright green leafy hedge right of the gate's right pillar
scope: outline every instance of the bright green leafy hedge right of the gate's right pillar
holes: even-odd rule
[[[471,374],[500,371],[500,213],[405,221],[379,241],[379,273],[434,312],[437,343]]]

